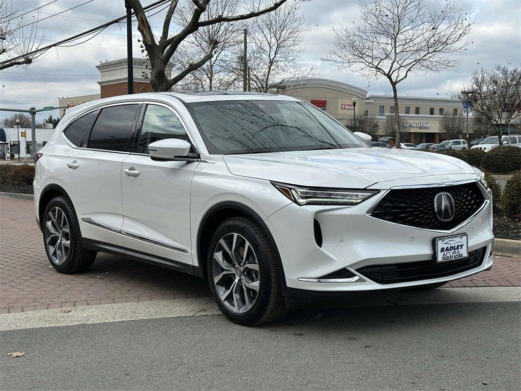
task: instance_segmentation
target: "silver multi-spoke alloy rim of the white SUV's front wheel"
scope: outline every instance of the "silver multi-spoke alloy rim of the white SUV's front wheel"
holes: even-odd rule
[[[213,277],[217,296],[227,309],[244,313],[253,307],[261,276],[257,256],[243,236],[229,233],[217,242]]]

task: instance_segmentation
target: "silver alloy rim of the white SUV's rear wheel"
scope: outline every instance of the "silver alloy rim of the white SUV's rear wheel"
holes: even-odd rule
[[[61,265],[67,259],[70,250],[69,222],[63,210],[54,206],[45,221],[45,246],[47,253],[57,265]]]

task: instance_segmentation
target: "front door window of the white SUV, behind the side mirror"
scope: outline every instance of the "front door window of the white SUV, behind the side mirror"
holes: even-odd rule
[[[181,139],[190,142],[181,121],[170,109],[157,105],[146,106],[138,152],[148,153],[148,144],[164,139]]]

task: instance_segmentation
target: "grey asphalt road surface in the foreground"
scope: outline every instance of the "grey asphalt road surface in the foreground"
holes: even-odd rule
[[[520,310],[436,303],[300,310],[257,328],[206,315],[9,330],[0,389],[519,390]]]

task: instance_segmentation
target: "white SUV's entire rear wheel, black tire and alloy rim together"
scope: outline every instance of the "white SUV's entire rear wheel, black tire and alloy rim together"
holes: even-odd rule
[[[84,249],[72,202],[64,196],[53,198],[43,215],[43,242],[47,258],[59,273],[88,271],[96,251]]]

